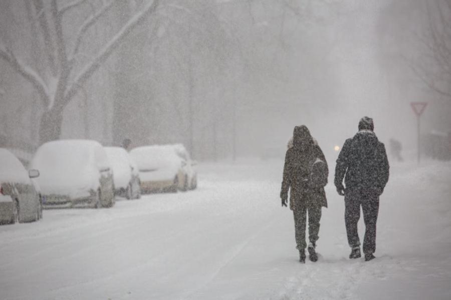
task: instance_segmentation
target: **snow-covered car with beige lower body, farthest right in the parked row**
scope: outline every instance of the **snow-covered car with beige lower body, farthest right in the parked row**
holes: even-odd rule
[[[183,166],[172,147],[138,147],[130,156],[138,166],[141,192],[177,192],[180,183],[184,184]]]

